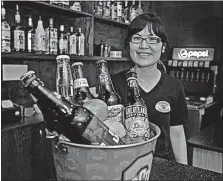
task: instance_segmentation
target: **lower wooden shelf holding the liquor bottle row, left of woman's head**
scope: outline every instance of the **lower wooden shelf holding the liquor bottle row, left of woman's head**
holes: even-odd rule
[[[75,56],[69,55],[71,61],[97,61],[97,60],[106,60],[106,61],[114,61],[114,62],[127,62],[129,59],[127,57],[123,58],[112,58],[112,57],[99,57],[99,56]],[[13,52],[13,53],[1,53],[2,61],[5,59],[20,59],[20,60],[37,60],[37,61],[44,61],[44,60],[56,60],[56,55],[45,55],[45,54],[33,54],[33,53],[20,53],[20,52]]]

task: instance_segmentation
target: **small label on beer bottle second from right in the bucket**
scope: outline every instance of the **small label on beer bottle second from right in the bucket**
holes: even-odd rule
[[[114,121],[122,122],[124,106],[122,104],[108,106],[108,117]]]

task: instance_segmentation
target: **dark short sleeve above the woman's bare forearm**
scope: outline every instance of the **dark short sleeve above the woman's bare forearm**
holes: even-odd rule
[[[176,89],[176,99],[171,105],[170,126],[185,125],[188,120],[188,109],[183,91],[183,86],[180,83]]]

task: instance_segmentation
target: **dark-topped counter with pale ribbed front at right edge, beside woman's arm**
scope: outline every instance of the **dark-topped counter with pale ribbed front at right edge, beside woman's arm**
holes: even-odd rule
[[[223,173],[223,120],[215,121],[187,140],[192,165]]]

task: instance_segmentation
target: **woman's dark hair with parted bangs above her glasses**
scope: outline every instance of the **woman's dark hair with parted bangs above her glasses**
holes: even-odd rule
[[[149,25],[148,28],[151,28],[150,25],[152,25],[153,32],[161,38],[162,42],[165,43],[166,46],[168,46],[165,24],[155,13],[140,14],[130,23],[125,40],[125,46],[128,47],[129,39],[132,35],[142,31],[147,25]]]

